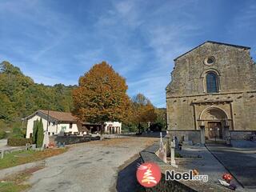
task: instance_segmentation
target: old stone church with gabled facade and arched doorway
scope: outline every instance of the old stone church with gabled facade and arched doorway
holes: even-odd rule
[[[166,87],[167,126],[178,136],[245,138],[256,131],[256,65],[250,47],[204,42],[174,59]]]

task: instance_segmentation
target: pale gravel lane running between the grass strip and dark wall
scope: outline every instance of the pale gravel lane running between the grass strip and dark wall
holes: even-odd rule
[[[114,191],[118,166],[154,141],[133,137],[73,145],[65,154],[46,160],[46,168],[30,178],[29,191]]]

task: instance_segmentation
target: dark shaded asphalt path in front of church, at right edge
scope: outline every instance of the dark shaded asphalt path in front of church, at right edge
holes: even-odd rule
[[[245,188],[256,190],[256,149],[242,149],[223,144],[206,144],[212,154]]]

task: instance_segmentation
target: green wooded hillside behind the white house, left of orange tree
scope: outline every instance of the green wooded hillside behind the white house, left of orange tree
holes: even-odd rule
[[[75,86],[56,84],[45,86],[22,74],[10,64],[0,64],[0,128],[20,121],[38,109],[70,111],[73,107],[71,91]]]

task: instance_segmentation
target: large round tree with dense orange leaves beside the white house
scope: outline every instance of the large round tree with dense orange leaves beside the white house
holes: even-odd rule
[[[79,78],[73,91],[74,111],[82,122],[124,121],[130,113],[126,79],[106,62],[94,65]]]

